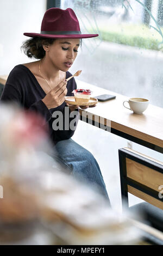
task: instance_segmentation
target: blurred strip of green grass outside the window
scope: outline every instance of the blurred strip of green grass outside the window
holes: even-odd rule
[[[162,51],[162,36],[153,28],[149,29],[145,25],[108,25],[108,27],[100,27],[102,39],[118,44],[136,46],[150,50]],[[163,33],[163,29],[161,29]]]

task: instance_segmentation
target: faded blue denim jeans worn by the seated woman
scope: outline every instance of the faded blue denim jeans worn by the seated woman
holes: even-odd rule
[[[109,202],[101,170],[95,157],[88,150],[70,138],[59,141],[55,145],[55,151],[54,159],[57,156],[57,160],[69,170],[72,176],[87,185],[98,188],[98,191]]]

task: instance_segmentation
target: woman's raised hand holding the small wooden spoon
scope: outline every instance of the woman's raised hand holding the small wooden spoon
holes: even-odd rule
[[[67,94],[66,85],[66,79],[62,80],[57,87],[50,90],[50,92],[48,92],[42,99],[48,109],[58,107],[65,101],[65,96]]]

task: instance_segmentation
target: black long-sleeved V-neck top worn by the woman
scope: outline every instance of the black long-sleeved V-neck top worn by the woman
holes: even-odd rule
[[[70,76],[72,76],[71,73],[67,71],[66,78]],[[76,81],[72,78],[67,82],[66,96],[73,96],[72,91],[76,88]],[[42,101],[45,96],[46,93],[37,82],[33,73],[26,66],[20,64],[11,70],[1,95],[1,101],[16,102],[24,109],[41,114],[45,120],[45,123],[42,125],[48,126],[49,138],[54,144],[63,139],[71,138],[74,134],[73,130],[65,130],[65,126],[64,130],[53,130],[52,127],[53,121],[56,119],[52,117],[55,111],[61,111],[65,121],[65,113],[67,113],[65,111],[66,103],[63,102],[56,108],[48,109]],[[70,114],[70,110],[68,114]],[[71,120],[73,118],[69,119],[69,123]]]

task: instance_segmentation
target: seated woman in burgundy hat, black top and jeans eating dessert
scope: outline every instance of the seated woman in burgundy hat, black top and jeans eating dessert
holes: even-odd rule
[[[72,91],[77,88],[74,78],[66,82],[71,76],[68,69],[77,57],[80,40],[98,34],[83,35],[72,9],[51,8],[43,16],[41,33],[24,35],[32,38],[24,42],[24,52],[28,57],[39,60],[12,69],[1,100],[16,101],[23,108],[40,113],[45,120],[42,125],[48,125],[49,137],[57,151],[52,153],[53,158],[64,164],[72,175],[97,186],[109,200],[97,161],[89,151],[71,139],[74,129],[67,130],[64,126],[64,129],[57,130],[54,127],[57,111],[62,113],[65,120],[66,108],[70,114],[79,107],[66,106],[65,103],[65,96],[73,96]],[[69,123],[72,119],[69,119]]]

